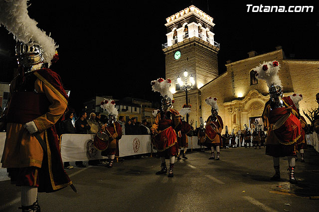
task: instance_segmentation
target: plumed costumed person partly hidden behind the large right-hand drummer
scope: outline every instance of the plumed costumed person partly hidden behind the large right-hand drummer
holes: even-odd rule
[[[292,95],[289,95],[289,97],[293,100],[293,102],[298,110],[298,113],[300,114],[299,102],[303,99],[303,95],[294,93]],[[301,162],[305,163],[305,151],[304,150],[307,149],[306,131],[308,129],[308,125],[307,125],[307,121],[306,121],[305,117],[300,115],[299,120],[300,120],[302,128],[301,128],[301,137],[300,137],[299,141],[296,143],[296,148],[300,152]],[[296,161],[298,160],[297,152],[296,152],[295,160]]]

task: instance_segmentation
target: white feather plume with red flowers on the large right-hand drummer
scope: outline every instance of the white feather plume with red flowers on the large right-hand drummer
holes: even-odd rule
[[[256,73],[256,77],[258,79],[263,79],[266,81],[267,86],[270,87],[271,85],[278,85],[282,87],[281,80],[278,76],[278,71],[280,70],[280,64],[278,61],[267,61],[259,66],[254,68]]]

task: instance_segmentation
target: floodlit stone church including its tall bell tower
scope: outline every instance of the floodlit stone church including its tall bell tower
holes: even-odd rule
[[[252,128],[255,121],[262,124],[261,115],[269,100],[268,87],[265,81],[255,78],[253,69],[264,61],[277,60],[281,64],[279,77],[284,96],[303,95],[299,102],[302,115],[303,110],[307,112],[318,107],[315,99],[319,92],[319,60],[286,59],[282,47],[277,46],[272,52],[257,55],[251,51],[246,59],[227,61],[226,72],[218,75],[220,46],[213,38],[213,18],[190,6],[166,20],[165,77],[172,81],[173,106],[180,111],[186,99],[185,91],[176,84],[177,77],[183,79],[184,71],[193,76],[193,88],[187,95],[187,103],[192,108],[189,120],[194,121],[193,127],[199,126],[200,117],[206,120],[210,115],[211,107],[205,103],[209,96],[217,98],[218,114],[230,131],[242,130],[244,124]],[[185,31],[188,31],[188,36],[185,36]]]

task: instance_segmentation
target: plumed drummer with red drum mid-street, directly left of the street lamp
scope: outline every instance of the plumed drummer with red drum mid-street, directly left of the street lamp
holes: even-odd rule
[[[157,111],[155,123],[152,126],[152,143],[157,148],[161,161],[161,170],[157,175],[167,173],[165,158],[169,157],[168,177],[173,177],[175,156],[178,153],[177,134],[181,129],[180,115],[178,111],[172,109],[173,95],[169,91],[170,79],[154,80],[151,82],[154,92],[160,92],[161,110]],[[155,115],[155,114],[154,114]]]

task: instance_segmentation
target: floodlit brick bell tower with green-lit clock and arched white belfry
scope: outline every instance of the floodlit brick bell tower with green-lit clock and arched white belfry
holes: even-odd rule
[[[199,126],[201,116],[199,88],[218,76],[217,53],[220,45],[214,39],[214,25],[213,18],[194,5],[167,17],[165,23],[167,43],[162,44],[165,78],[171,79],[174,109],[180,111],[186,103],[186,95],[177,84],[177,77],[184,81],[185,71],[193,77],[187,101],[191,105],[189,120],[194,121],[194,128],[196,122]]]

